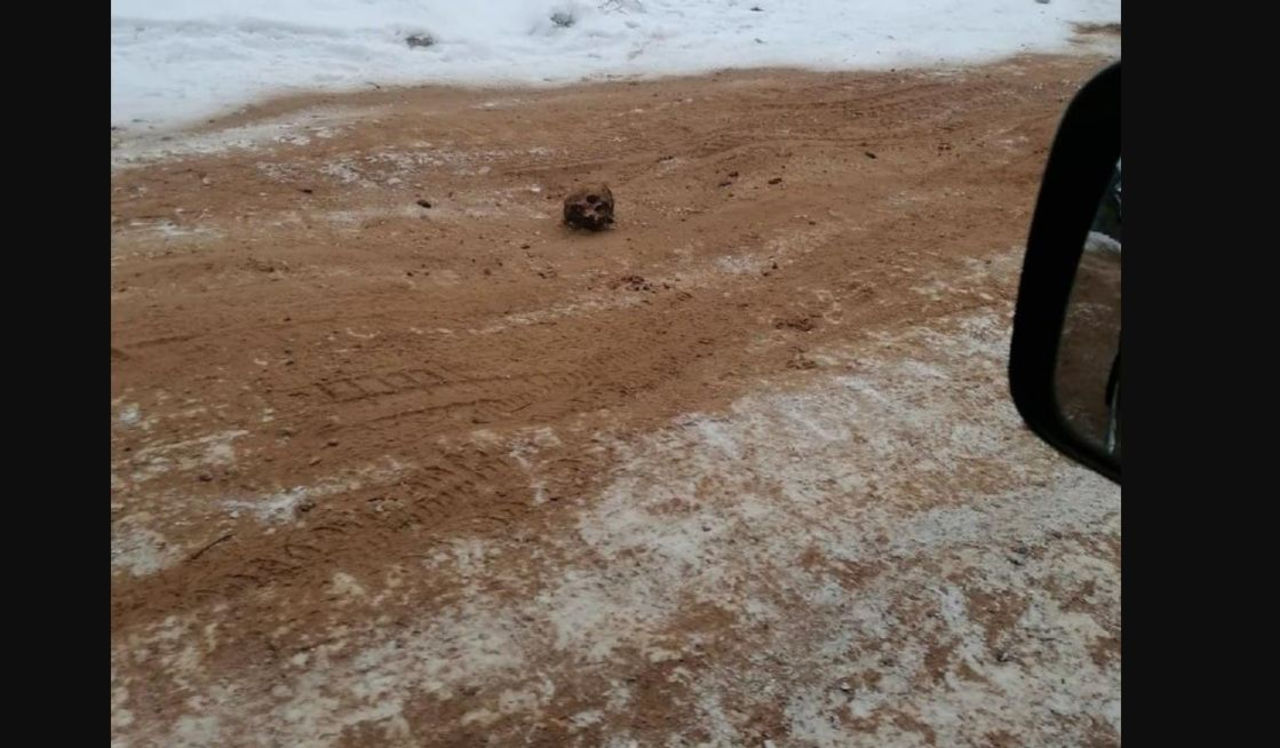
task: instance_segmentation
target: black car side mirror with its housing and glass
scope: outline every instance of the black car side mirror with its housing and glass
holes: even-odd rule
[[[1120,63],[1066,109],[1027,240],[1009,380],[1038,437],[1120,482]]]

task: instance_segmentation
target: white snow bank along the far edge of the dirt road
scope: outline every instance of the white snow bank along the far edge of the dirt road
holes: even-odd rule
[[[1073,23],[1119,20],[1119,0],[113,0],[111,123],[371,83],[982,61],[1062,51]]]

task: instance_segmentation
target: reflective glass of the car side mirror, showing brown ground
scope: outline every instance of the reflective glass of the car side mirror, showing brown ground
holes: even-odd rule
[[[1079,437],[1120,459],[1120,161],[1098,201],[1059,341],[1057,406]]]

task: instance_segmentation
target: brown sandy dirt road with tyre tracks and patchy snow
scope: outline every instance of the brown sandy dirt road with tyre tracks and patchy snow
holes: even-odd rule
[[[1005,380],[1103,61],[113,133],[115,744],[1117,744],[1120,492]]]

